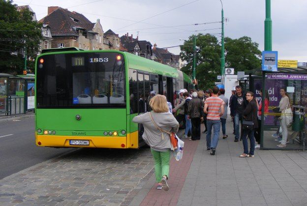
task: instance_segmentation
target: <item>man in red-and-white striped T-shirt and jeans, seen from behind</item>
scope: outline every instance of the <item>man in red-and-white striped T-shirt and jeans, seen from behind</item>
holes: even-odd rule
[[[220,116],[224,114],[224,101],[217,94],[218,87],[213,88],[213,95],[205,101],[204,112],[207,114],[207,150],[211,149],[210,154],[215,155],[215,149],[219,137]],[[208,109],[208,110],[207,110]],[[213,138],[211,141],[211,133],[213,128]]]

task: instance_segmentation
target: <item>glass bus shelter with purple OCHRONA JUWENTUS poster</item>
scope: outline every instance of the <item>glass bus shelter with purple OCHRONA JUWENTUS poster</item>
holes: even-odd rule
[[[255,94],[258,103],[264,105],[264,100],[269,100],[269,111],[264,112],[265,108],[262,107],[262,115],[258,117],[261,119],[261,149],[305,150],[307,67],[278,68],[277,72],[254,69],[247,74],[249,90]],[[278,107],[281,100],[280,89],[287,92],[292,109],[292,116],[289,115],[292,123],[287,125],[286,132],[280,127],[280,120],[284,117],[280,115]],[[286,146],[278,147],[283,136],[287,137]]]

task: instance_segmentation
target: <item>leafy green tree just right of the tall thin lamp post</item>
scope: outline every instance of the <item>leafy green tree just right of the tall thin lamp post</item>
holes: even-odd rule
[[[248,36],[238,39],[225,37],[225,68],[235,68],[236,71],[261,68],[261,51],[258,46]]]

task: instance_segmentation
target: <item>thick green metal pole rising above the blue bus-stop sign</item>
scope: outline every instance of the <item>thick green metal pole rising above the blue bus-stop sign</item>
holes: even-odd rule
[[[266,19],[264,21],[264,50],[272,51],[271,0],[266,0]]]

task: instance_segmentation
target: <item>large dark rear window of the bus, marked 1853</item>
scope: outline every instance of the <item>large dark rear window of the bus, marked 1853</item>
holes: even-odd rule
[[[122,54],[50,54],[36,65],[37,108],[125,106]]]

